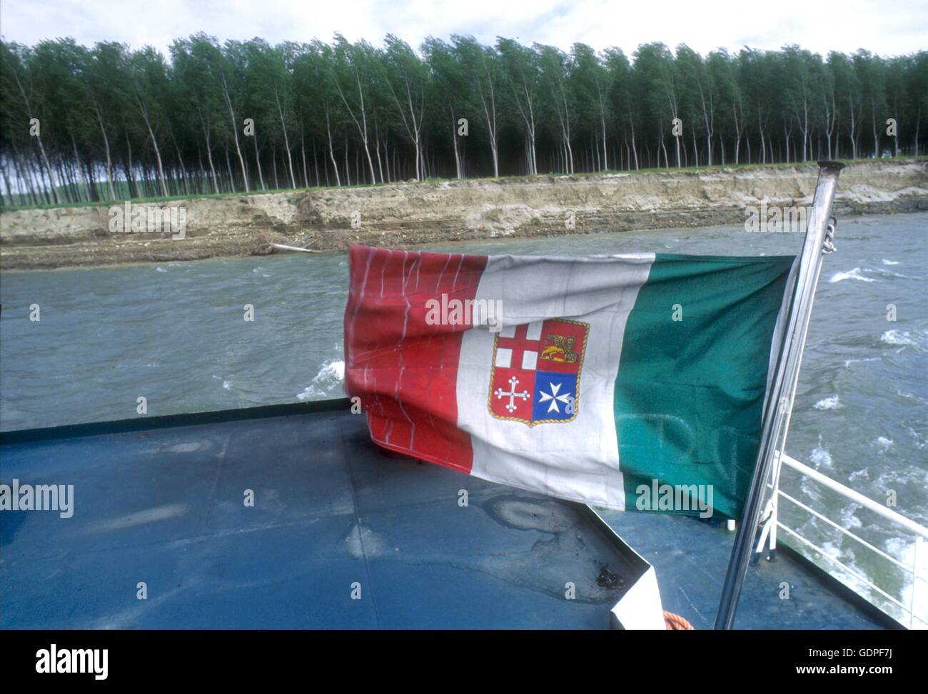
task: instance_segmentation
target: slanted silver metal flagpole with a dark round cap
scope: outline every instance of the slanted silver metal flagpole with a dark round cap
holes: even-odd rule
[[[775,376],[765,404],[754,475],[744,502],[741,523],[731,548],[728,572],[725,574],[725,584],[722,585],[722,597],[718,603],[718,612],[715,614],[716,629],[730,629],[735,622],[738,598],[741,597],[741,585],[744,582],[748,562],[751,560],[751,551],[754,548],[754,534],[757,521],[760,519],[767,478],[776,453],[780,428],[793,404],[796,376],[802,359],[803,343],[806,339],[806,327],[809,316],[812,314],[812,302],[818,285],[818,273],[821,270],[822,252],[826,244],[831,242],[829,238],[831,204],[834,201],[834,191],[838,186],[838,174],[843,168],[844,164],[840,161],[818,162],[818,183],[815,197],[812,199],[812,209],[809,211],[806,240],[799,259],[796,284],[793,289],[793,302],[791,302],[787,317],[787,328],[783,333],[782,350],[777,360]]]

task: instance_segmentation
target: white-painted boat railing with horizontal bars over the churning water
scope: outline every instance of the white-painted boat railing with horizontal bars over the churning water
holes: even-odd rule
[[[877,595],[881,596],[882,598],[885,598],[885,600],[889,601],[889,603],[895,605],[896,608],[900,610],[900,613],[904,615],[902,619],[900,619],[899,614],[892,614],[890,611],[885,609],[885,606],[881,606],[877,604],[876,602],[874,602],[872,598],[868,596],[863,596],[864,598],[867,598],[877,608],[890,614],[890,616],[896,619],[896,621],[898,621],[899,623],[902,623],[903,625],[908,626],[909,629],[928,627],[928,621],[925,620],[924,616],[920,616],[919,614],[916,614],[916,605],[918,604],[916,600],[916,596],[920,594],[921,589],[924,589],[921,584],[928,583],[928,577],[924,575],[924,572],[920,571],[920,566],[919,566],[919,560],[920,558],[923,557],[923,554],[922,554],[922,552],[924,551],[923,544],[924,544],[925,539],[928,539],[928,528],[925,528],[925,526],[915,521],[912,521],[909,518],[906,518],[900,513],[897,513],[892,508],[888,508],[887,506],[877,501],[874,501],[870,497],[862,495],[859,492],[854,491],[853,489],[842,484],[841,482],[832,480],[830,477],[823,475],[817,469],[808,467],[807,465],[799,462],[792,456],[789,456],[787,454],[780,454],[780,452],[778,451],[776,465],[780,469],[783,466],[789,469],[793,469],[795,472],[798,472],[799,474],[806,476],[806,478],[808,478],[809,480],[818,482],[818,484],[821,484],[822,486],[830,489],[832,492],[835,492],[836,494],[843,496],[844,498],[848,499],[849,501],[852,501],[855,504],[858,504],[859,506],[863,508],[869,509],[876,515],[880,516],[883,520],[890,521],[898,529],[904,531],[905,533],[910,533],[911,535],[913,535],[914,536],[913,559],[910,565],[907,562],[896,559],[896,557],[889,555],[887,552],[883,551],[883,549],[880,549],[877,546],[873,546],[872,544],[867,542],[867,540],[858,536],[853,531],[845,528],[844,526],[842,526],[841,524],[835,521],[832,521],[830,518],[827,518],[824,514],[822,514],[820,511],[816,510],[815,508],[809,507],[807,504],[803,503],[799,499],[782,491],[782,489],[780,489],[779,484],[777,484],[776,486],[774,484],[767,485],[769,489],[775,488],[776,494],[771,495],[772,498],[767,503],[767,508],[765,509],[766,510],[765,518],[762,524],[762,532],[761,532],[759,541],[757,543],[757,552],[763,551],[763,547],[765,543],[768,543],[768,546],[771,550],[775,549],[776,544],[777,544],[777,530],[778,529],[782,530],[783,532],[788,533],[789,537],[791,539],[794,539],[801,546],[804,546],[807,549],[811,550],[815,556],[820,556],[826,559],[827,562],[831,564],[831,568],[823,567],[823,569],[831,573],[832,576],[834,576],[836,579],[838,579],[845,585],[848,583],[847,581],[848,576],[853,576],[854,580],[858,581],[862,585],[868,586]],[[827,525],[831,526],[831,528],[834,528],[835,530],[837,530],[839,533],[842,533],[845,537],[850,538],[851,540],[856,542],[859,546],[865,547],[867,550],[872,552],[874,555],[895,565],[902,572],[909,574],[911,576],[911,596],[909,598],[909,604],[907,605],[905,602],[903,602],[896,596],[891,595],[886,590],[885,586],[877,585],[874,579],[870,578],[870,576],[865,575],[864,573],[860,572],[854,567],[848,566],[844,561],[835,557],[832,553],[827,551],[824,547],[818,546],[812,540],[794,531],[793,528],[790,528],[787,525],[783,524],[783,522],[780,521],[780,518],[778,516],[778,507],[780,505],[780,499],[789,502],[796,508],[802,509],[806,513],[810,514],[812,517],[818,519],[819,521],[826,523]],[[788,543],[788,544],[792,544],[792,543]],[[833,571],[833,567],[839,568],[840,571]],[[842,572],[844,572],[844,574]],[[849,586],[849,587],[854,588],[856,586]],[[916,623],[919,623],[919,624],[916,624]]]

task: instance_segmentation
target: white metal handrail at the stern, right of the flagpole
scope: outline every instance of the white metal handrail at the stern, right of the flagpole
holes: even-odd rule
[[[828,487],[833,492],[836,492],[837,494],[844,496],[845,498],[853,501],[854,503],[859,504],[861,507],[869,509],[870,511],[877,514],[878,516],[881,516],[883,519],[895,523],[897,526],[904,528],[909,533],[913,533],[915,535],[915,556],[913,558],[911,566],[904,564],[903,562],[899,561],[898,559],[884,552],[879,547],[871,545],[869,542],[867,542],[863,538],[858,537],[855,533],[847,530],[846,528],[843,528],[842,526],[838,525],[838,523],[831,521],[831,519],[826,518],[814,508],[810,508],[806,506],[806,504],[799,501],[798,499],[793,498],[793,496],[780,491],[779,484],[776,485],[776,487],[774,487],[773,484],[767,485],[768,487],[775,488],[777,494],[774,495],[774,497],[770,500],[770,503],[768,504],[768,514],[767,514],[767,518],[764,524],[763,532],[761,533],[761,537],[760,537],[760,540],[757,546],[757,551],[758,552],[762,551],[763,546],[767,542],[767,540],[769,540],[770,549],[775,548],[776,546],[775,529],[779,527],[785,532],[791,534],[793,537],[799,540],[802,544],[818,552],[818,554],[820,554],[825,559],[828,559],[832,563],[840,566],[845,572],[848,572],[849,574],[853,575],[855,578],[857,578],[858,581],[860,581],[864,585],[870,586],[870,588],[872,588],[877,593],[879,593],[881,596],[883,596],[883,598],[890,600],[893,604],[897,605],[901,610],[904,610],[905,612],[907,612],[909,614],[909,628],[912,627],[912,625],[914,624],[914,621],[916,620],[928,626],[928,622],[922,619],[922,617],[915,614],[915,596],[916,596],[917,586],[920,582],[928,583],[928,579],[926,579],[924,576],[919,574],[919,563],[918,563],[919,556],[921,554],[920,549],[922,546],[922,541],[928,538],[928,528],[925,528],[923,525],[915,521],[912,521],[911,519],[906,518],[905,516],[894,511],[892,508],[887,508],[883,506],[882,504],[874,501],[873,499],[870,499],[870,497],[864,496],[854,491],[853,489],[842,484],[841,482],[832,480],[830,477],[827,477],[826,475],[823,475],[820,472],[818,472],[817,469],[810,468],[807,465],[799,462],[795,458],[786,455],[785,453],[780,453],[778,451],[777,463],[778,463],[778,468],[780,467],[780,463],[783,465],[786,465],[788,468],[794,469],[795,471],[799,472],[800,474],[805,475],[809,479],[815,482],[818,482],[825,487]],[[808,539],[806,539],[799,533],[796,533],[795,531],[793,531],[792,528],[789,528],[786,525],[784,525],[782,522],[780,522],[780,520],[777,518],[777,515],[778,515],[777,507],[778,507],[778,500],[780,497],[793,503],[797,507],[802,508],[803,510],[815,516],[816,518],[820,519],[821,521],[825,521],[826,523],[831,525],[831,527],[835,528],[841,533],[844,533],[844,535],[855,540],[860,545],[867,547],[868,549],[870,549],[870,551],[876,553],[878,556],[883,557],[883,559],[888,559],[893,564],[895,564],[900,569],[902,569],[904,572],[910,573],[912,575],[912,597],[911,597],[909,606],[902,603],[899,599],[891,596],[889,593],[883,590],[883,588],[881,588],[879,585],[874,584],[873,581],[870,580],[869,577],[863,575],[860,572],[857,572],[857,570],[852,569],[851,567],[847,566],[846,564],[844,564],[844,562],[840,561],[839,559],[832,557],[828,552],[824,550],[824,548],[817,546],[815,543],[809,541]]]

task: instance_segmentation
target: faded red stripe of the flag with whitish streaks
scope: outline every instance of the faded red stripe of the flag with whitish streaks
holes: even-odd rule
[[[352,246],[345,309],[345,390],[359,396],[385,448],[470,472],[458,429],[458,359],[466,325],[428,325],[430,299],[469,300],[486,256]]]

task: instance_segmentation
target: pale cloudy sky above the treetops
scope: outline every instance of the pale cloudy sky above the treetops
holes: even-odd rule
[[[703,55],[719,47],[776,49],[799,44],[822,55],[866,48],[884,56],[928,49],[928,0],[3,0],[0,35],[35,44],[71,36],[119,41],[163,52],[174,38],[207,32],[221,41],[260,36],[380,45],[393,33],[413,47],[427,36],[496,36],[522,44],[582,42],[629,55],[644,43],[687,44]]]

